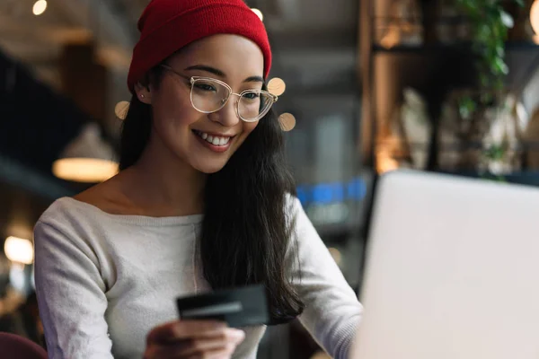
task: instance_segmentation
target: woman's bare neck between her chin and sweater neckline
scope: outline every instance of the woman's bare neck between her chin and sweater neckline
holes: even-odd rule
[[[198,215],[203,212],[207,175],[193,169],[151,136],[138,162],[130,169],[129,197],[159,215]]]

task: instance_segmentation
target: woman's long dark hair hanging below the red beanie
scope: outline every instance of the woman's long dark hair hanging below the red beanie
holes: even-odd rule
[[[158,66],[148,78],[158,86],[162,75]],[[151,121],[151,107],[133,96],[122,129],[120,170],[144,152]],[[199,242],[204,276],[214,289],[265,285],[271,324],[293,320],[305,308],[289,270],[299,266],[289,211],[289,197],[295,194],[282,130],[272,110],[225,167],[208,175],[205,188]]]

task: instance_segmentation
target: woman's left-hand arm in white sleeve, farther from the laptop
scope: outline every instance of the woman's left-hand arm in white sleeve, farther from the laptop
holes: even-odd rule
[[[36,293],[49,358],[112,358],[105,285],[92,248],[41,221],[34,242]]]

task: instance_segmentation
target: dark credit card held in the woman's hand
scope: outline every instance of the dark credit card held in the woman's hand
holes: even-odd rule
[[[266,290],[263,285],[248,285],[176,300],[180,319],[221,320],[240,328],[270,322]]]

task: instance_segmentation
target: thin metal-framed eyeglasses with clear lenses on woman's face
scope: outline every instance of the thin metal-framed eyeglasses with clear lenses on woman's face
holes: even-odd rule
[[[263,118],[278,97],[264,90],[245,90],[232,92],[227,83],[210,77],[188,77],[177,73],[171,66],[161,65],[164,69],[190,80],[190,101],[194,109],[202,113],[213,113],[225,107],[232,95],[238,97],[236,114],[245,122],[255,122]]]

